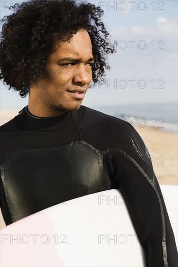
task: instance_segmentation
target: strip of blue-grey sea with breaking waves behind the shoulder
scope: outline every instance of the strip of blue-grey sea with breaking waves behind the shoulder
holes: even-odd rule
[[[178,133],[178,103],[120,104],[91,107],[139,127],[151,126]]]

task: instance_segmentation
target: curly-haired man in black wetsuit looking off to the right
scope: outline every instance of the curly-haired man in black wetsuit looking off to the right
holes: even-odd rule
[[[140,135],[82,106],[104,75],[102,10],[72,0],[31,0],[4,23],[4,82],[28,106],[0,127],[0,201],[6,224],[63,201],[121,188],[149,267],[175,267],[174,234]],[[103,35],[104,34],[104,38]]]

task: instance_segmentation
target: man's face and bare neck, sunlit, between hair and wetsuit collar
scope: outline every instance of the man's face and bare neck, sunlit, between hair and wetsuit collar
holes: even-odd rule
[[[48,116],[79,109],[92,80],[94,59],[86,30],[74,34],[70,43],[56,43],[56,47],[47,60],[44,76],[30,87],[29,94],[30,106],[34,100],[38,110],[45,109]]]

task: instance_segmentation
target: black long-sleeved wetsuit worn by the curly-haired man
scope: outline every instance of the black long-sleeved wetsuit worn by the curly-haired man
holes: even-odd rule
[[[149,152],[124,120],[85,106],[40,118],[26,107],[0,127],[0,173],[6,225],[67,200],[121,188],[148,266],[177,266]]]

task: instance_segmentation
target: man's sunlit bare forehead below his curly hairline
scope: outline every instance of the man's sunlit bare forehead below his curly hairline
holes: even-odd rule
[[[55,59],[56,57],[92,57],[92,44],[89,33],[86,30],[80,30],[76,34],[73,34],[70,42],[55,40],[54,49],[55,50],[50,55],[51,60]]]

